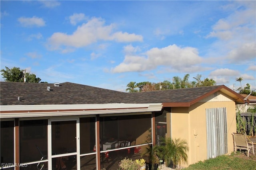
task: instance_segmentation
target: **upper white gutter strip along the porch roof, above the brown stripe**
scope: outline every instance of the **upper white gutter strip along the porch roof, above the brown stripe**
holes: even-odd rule
[[[26,111],[26,110],[72,110],[72,109],[118,109],[148,107],[154,108],[162,105],[161,103],[149,104],[50,104],[50,105],[1,105],[0,111]]]

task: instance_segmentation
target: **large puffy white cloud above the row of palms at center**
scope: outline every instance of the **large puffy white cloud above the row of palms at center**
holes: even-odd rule
[[[146,56],[132,55],[127,53],[124,61],[112,72],[132,72],[152,70],[158,66],[168,66],[174,70],[184,71],[199,68],[202,58],[198,55],[198,51],[192,47],[178,47],[177,45],[169,45],[162,49],[152,48],[147,51]]]

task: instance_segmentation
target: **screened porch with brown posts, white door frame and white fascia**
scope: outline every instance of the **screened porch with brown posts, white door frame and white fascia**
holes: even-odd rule
[[[155,142],[162,104],[1,106],[1,168],[117,169]]]

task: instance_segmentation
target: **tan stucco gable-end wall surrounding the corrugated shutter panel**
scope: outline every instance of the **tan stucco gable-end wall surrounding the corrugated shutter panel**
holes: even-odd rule
[[[207,159],[206,141],[206,108],[226,107],[228,154],[234,150],[232,133],[236,132],[236,109],[233,101],[198,102],[190,107],[172,107],[171,125],[172,138],[188,141],[187,167],[198,161]]]

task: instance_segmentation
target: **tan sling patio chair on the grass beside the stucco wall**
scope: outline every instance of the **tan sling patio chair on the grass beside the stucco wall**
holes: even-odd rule
[[[246,140],[246,134],[242,133],[232,133],[233,140],[234,140],[234,151],[236,153],[237,149],[247,150],[247,156],[249,157],[250,149],[252,149],[252,152],[254,154],[254,146],[253,142],[248,142]]]

